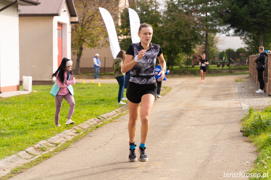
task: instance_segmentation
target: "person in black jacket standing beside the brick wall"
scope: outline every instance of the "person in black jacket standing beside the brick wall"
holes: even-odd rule
[[[255,91],[256,93],[264,93],[263,91],[263,71],[265,69],[265,57],[267,56],[267,53],[264,51],[263,46],[259,47],[259,52],[260,55],[259,57],[255,60],[255,63],[257,63],[256,69],[258,73],[258,81],[260,83],[260,89]]]

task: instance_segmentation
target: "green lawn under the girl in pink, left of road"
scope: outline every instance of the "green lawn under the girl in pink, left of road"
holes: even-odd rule
[[[63,100],[59,117],[61,127],[55,127],[55,99],[50,95],[51,88],[52,85],[35,85],[32,90],[37,92],[0,98],[0,159],[122,106],[117,103],[117,83],[101,87],[92,83],[75,84],[76,105],[72,117],[75,124],[65,125],[69,104]]]

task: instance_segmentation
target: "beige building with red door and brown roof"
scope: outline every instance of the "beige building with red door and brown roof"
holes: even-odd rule
[[[73,0],[39,0],[36,7],[19,6],[20,83],[52,84],[62,58],[71,59],[71,24],[78,23]]]

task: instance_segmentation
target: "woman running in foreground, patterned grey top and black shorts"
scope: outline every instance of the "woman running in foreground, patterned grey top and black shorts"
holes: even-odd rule
[[[139,161],[148,161],[145,143],[149,132],[149,114],[152,109],[157,91],[157,84],[154,77],[156,57],[158,58],[161,71],[161,81],[165,77],[166,63],[162,49],[158,44],[152,44],[153,28],[150,24],[142,23],[138,29],[140,43],[130,44],[126,51],[126,58],[122,66],[122,72],[131,70],[131,78],[126,90],[126,97],[129,106],[129,161],[137,161],[136,156],[136,124],[140,112],[141,120],[141,143],[139,146]],[[140,109],[141,103],[141,109]]]

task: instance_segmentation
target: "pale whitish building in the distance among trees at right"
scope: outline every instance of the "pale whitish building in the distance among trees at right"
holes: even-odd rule
[[[225,36],[219,37],[217,47],[219,51],[225,51],[229,48],[236,51],[238,48],[246,48],[246,45],[240,36]]]

